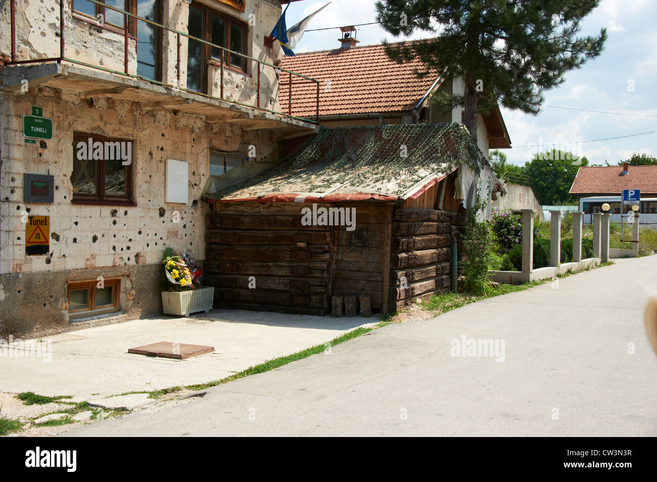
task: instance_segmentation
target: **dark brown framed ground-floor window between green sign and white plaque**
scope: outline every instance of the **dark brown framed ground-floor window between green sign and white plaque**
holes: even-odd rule
[[[73,135],[74,204],[133,206],[135,143],[97,134]],[[129,157],[129,164],[125,164]]]

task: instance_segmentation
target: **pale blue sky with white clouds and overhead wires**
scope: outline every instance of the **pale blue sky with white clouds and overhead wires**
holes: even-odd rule
[[[327,1],[292,2],[286,14],[288,28]],[[544,91],[545,105],[601,110],[642,116],[618,116],[544,106],[537,116],[502,108],[513,148],[505,149],[509,162],[524,164],[539,146],[562,148],[585,156],[589,164],[617,164],[634,152],[657,156],[657,133],[623,139],[593,141],[657,131],[657,1],[602,0],[581,22],[579,35],[596,35],[606,28],[608,40],[600,56],[572,70],[559,87]],[[312,29],[365,24],[376,20],[373,0],[331,0],[307,26],[295,52],[335,49],[340,30]],[[393,37],[376,25],[357,27],[358,45],[432,37],[414,32]],[[529,146],[529,147],[527,147]]]

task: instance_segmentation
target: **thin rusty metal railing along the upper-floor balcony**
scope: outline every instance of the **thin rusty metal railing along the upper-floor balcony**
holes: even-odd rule
[[[83,65],[89,68],[94,68],[94,69],[99,69],[103,70],[105,72],[110,72],[111,74],[118,74],[121,76],[127,76],[131,78],[138,78],[142,79],[151,83],[155,83],[157,85],[162,85],[164,87],[171,87],[174,89],[178,89],[180,91],[196,94],[196,95],[201,95],[202,97],[206,97],[208,99],[215,99],[215,100],[221,100],[223,102],[230,102],[231,104],[237,104],[240,106],[244,107],[250,107],[250,108],[257,108],[258,110],[262,110],[264,112],[271,112],[272,114],[279,114],[281,116],[285,116],[288,118],[296,119],[296,120],[302,120],[302,121],[310,121],[317,123],[319,121],[319,80],[311,79],[311,77],[306,77],[303,76],[302,74],[297,74],[296,72],[292,72],[291,70],[287,70],[284,68],[281,68],[279,66],[275,66],[274,64],[270,64],[269,62],[265,62],[264,60],[260,60],[258,58],[250,57],[248,55],[244,55],[239,52],[232,51],[230,49],[226,49],[225,47],[221,47],[221,45],[216,45],[212,42],[208,42],[206,40],[200,39],[198,37],[194,37],[193,35],[189,35],[189,33],[185,32],[179,32],[179,30],[175,30],[173,28],[166,27],[162,24],[158,24],[157,22],[153,22],[152,20],[148,20],[147,18],[143,18],[140,16],[137,16],[135,14],[132,14],[130,12],[124,11],[122,9],[118,9],[116,7],[112,7],[112,5],[108,5],[106,3],[103,3],[102,1],[99,0],[87,0],[91,3],[95,3],[96,5],[102,5],[105,9],[110,9],[116,12],[119,12],[120,14],[123,14],[124,16],[124,26],[123,28],[121,27],[114,27],[110,28],[108,26],[105,26],[104,24],[98,24],[97,22],[94,22],[93,19],[89,18],[89,23],[93,24],[97,28],[101,28],[103,30],[108,30],[110,32],[117,33],[117,29],[122,30],[122,34],[124,36],[124,72],[119,72],[118,70],[112,70],[110,68],[106,68],[100,65],[94,65],[94,64],[89,64],[87,62],[81,62],[80,60],[76,60],[74,58],[68,58],[65,55],[65,45],[66,42],[64,40],[64,1],[65,0],[60,0],[59,1],[59,18],[60,18],[60,26],[59,26],[59,37],[60,37],[60,53],[58,57],[51,57],[51,58],[35,58],[35,59],[28,59],[28,60],[16,60],[16,6],[14,5],[16,0],[11,0],[11,62],[7,62],[7,65],[20,65],[20,64],[36,64],[36,63],[43,63],[43,62],[58,62],[61,63],[62,61],[64,62],[72,62],[74,64],[79,64]],[[73,6],[73,2],[70,2],[71,7]],[[74,16],[69,16],[69,18],[76,18]],[[148,24],[156,27],[156,28],[161,28],[162,30],[166,30],[167,32],[174,33],[176,35],[176,85],[168,84],[162,81],[157,81],[155,79],[150,79],[147,77],[135,75],[135,74],[130,74],[129,73],[129,60],[128,60],[128,54],[129,54],[129,24],[130,20],[135,20],[135,21],[141,21],[141,22],[147,22]],[[136,34],[136,32],[135,32]],[[193,40],[193,41],[198,41],[200,43],[204,43],[205,45],[210,46],[211,48],[214,49],[220,49],[221,50],[221,59],[219,60],[219,97],[216,97],[214,95],[210,94],[205,94],[201,93],[198,91],[193,91],[190,89],[185,89],[180,87],[180,65],[181,65],[181,43],[180,39],[181,36],[187,37],[187,39]],[[135,37],[133,37],[135,38]],[[164,39],[164,32],[162,32],[162,38]],[[164,49],[162,49],[164,51]],[[226,58],[227,55],[238,55],[246,60],[250,60],[251,62],[256,62],[258,68],[257,68],[257,76],[258,76],[258,87],[256,90],[256,105],[252,104],[245,104],[244,102],[237,102],[237,100],[229,100],[225,99],[223,96],[223,76],[224,76],[224,58]],[[246,60],[244,61],[244,65],[246,66]],[[260,75],[261,75],[261,66],[269,66],[275,70],[275,72],[280,73],[280,72],[287,72],[289,75],[288,79],[288,89],[289,89],[289,95],[288,95],[288,112],[287,114],[284,112],[279,112],[277,110],[270,110],[267,108],[263,108],[261,106],[260,102]],[[246,74],[246,72],[245,72]],[[248,75],[248,74],[247,74]],[[300,77],[301,79],[305,79],[303,81],[300,81],[298,83],[315,83],[317,86],[317,105],[315,108],[315,120],[309,120],[308,118],[302,118],[302,117],[297,117],[297,116],[292,116],[292,76]]]

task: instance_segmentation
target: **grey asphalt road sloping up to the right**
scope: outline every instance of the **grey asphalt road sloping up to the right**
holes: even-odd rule
[[[657,255],[623,259],[66,435],[654,436],[643,309],[656,295]],[[462,336],[504,340],[504,361],[452,357]]]

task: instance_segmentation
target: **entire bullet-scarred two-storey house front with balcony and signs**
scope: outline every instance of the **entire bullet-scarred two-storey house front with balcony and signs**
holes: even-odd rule
[[[277,68],[278,0],[114,5],[0,11],[1,335],[161,314],[163,250],[204,263],[204,199],[315,128],[278,101],[317,88]]]

